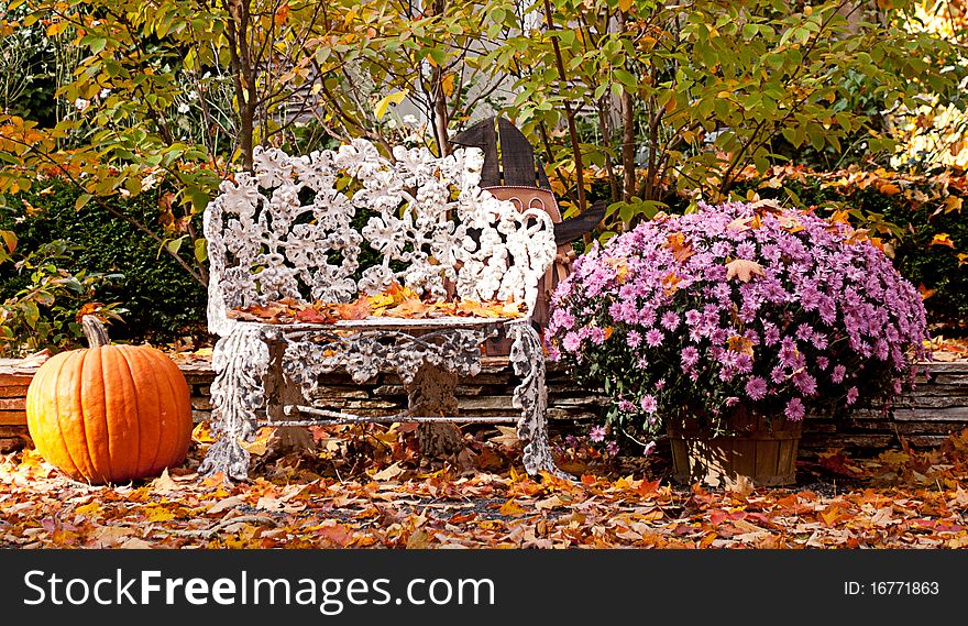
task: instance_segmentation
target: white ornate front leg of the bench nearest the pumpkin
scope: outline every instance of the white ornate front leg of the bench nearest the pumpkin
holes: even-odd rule
[[[222,472],[235,480],[249,476],[249,451],[240,441],[255,435],[257,411],[265,406],[263,377],[268,362],[268,345],[256,328],[237,326],[216,343],[211,402],[212,431],[218,439],[198,468],[200,475]]]

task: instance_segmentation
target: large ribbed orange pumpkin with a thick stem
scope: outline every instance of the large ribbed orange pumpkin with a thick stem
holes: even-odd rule
[[[89,349],[44,363],[26,392],[41,455],[75,480],[123,483],[178,465],[191,441],[188,384],[165,354],[110,345],[97,318],[82,320]]]

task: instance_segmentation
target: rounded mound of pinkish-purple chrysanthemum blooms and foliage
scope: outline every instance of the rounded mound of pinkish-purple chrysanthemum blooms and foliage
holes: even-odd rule
[[[608,420],[743,403],[888,402],[928,355],[917,290],[845,223],[740,202],[663,216],[595,246],[553,298],[552,359],[614,399]]]

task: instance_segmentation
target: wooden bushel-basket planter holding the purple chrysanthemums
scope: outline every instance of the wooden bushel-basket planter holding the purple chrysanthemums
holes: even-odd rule
[[[713,432],[694,416],[670,419],[673,480],[722,485],[747,476],[758,486],[792,484],[803,421],[769,419],[740,407]]]

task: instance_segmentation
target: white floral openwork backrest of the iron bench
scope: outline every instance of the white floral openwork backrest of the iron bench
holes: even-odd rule
[[[514,299],[534,310],[554,260],[548,213],[480,186],[477,149],[436,157],[365,140],[290,156],[256,149],[205,212],[209,330],[227,308],[349,301],[394,282],[436,298]]]

